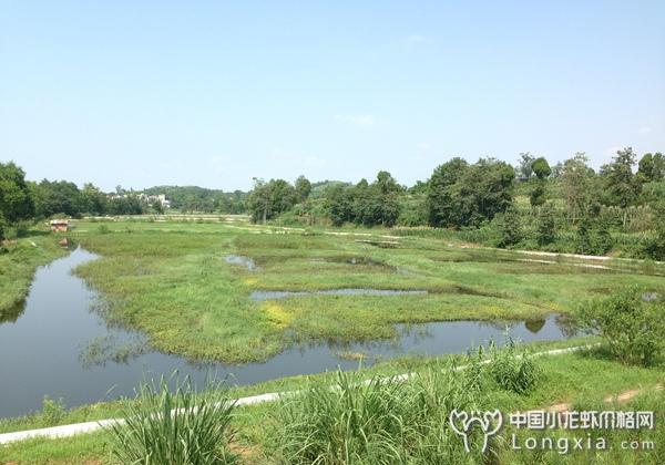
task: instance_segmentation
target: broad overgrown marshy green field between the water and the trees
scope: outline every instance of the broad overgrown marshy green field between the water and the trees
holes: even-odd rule
[[[295,340],[390,338],[401,322],[569,313],[628,283],[665,290],[665,267],[653,262],[534,256],[382,229],[80,221],[72,237],[101,256],[78,272],[102,292],[109,318],[145,331],[162,351],[225,362],[265,360]],[[228,264],[229,255],[255,266]],[[349,288],[427,293],[250,298]]]

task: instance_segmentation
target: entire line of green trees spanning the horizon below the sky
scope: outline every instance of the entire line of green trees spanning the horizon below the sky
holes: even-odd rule
[[[631,147],[597,172],[584,153],[554,166],[523,153],[515,166],[454,157],[410,187],[380,170],[357,184],[255,178],[249,193],[196,186],[136,193],[119,186],[108,194],[92,184],[79,189],[65,180],[28,182],[7,163],[0,164],[0,225],[61,214],[162,213],[146,200],[157,194],[181,211],[247,213],[255,223],[431,227],[499,247],[605,254],[620,245],[632,256],[665,258],[665,157],[638,157]]]

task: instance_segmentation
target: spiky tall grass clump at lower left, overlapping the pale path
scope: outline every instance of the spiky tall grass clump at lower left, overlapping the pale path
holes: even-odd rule
[[[228,443],[234,402],[218,384],[197,392],[190,378],[170,390],[162,378],[139,388],[136,402],[113,425],[111,452],[123,464],[235,463]]]

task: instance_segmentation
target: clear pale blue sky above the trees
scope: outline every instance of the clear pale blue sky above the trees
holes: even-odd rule
[[[663,24],[663,1],[0,0],[0,159],[104,189],[598,166],[665,152]]]

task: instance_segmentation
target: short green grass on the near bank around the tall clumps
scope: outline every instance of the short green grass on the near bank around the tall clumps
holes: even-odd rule
[[[562,345],[539,344],[541,348]],[[463,361],[457,358],[460,363]],[[430,373],[431,370],[447,370],[451,358],[418,359],[409,362],[410,371]],[[658,463],[663,454],[663,405],[665,396],[656,386],[665,381],[665,366],[663,363],[651,369],[622,365],[606,355],[603,350],[594,349],[581,353],[551,355],[536,359],[541,372],[540,380],[532,391],[518,394],[507,391],[499,385],[487,384],[482,395],[478,397],[478,405],[487,409],[499,409],[504,414],[529,409],[548,409],[554,404],[569,404],[571,409],[595,410],[653,410],[656,412],[656,430],[642,432],[640,435],[624,434],[621,432],[604,432],[607,441],[614,442],[613,451],[572,451],[562,457],[556,452],[538,454],[530,451],[511,451],[507,446],[510,435],[515,432],[512,427],[501,431],[495,441],[497,457],[499,463]],[[400,372],[400,362],[393,361],[381,364],[371,370],[364,370],[361,378],[371,374],[395,374]],[[335,374],[310,376],[308,379],[291,379],[286,381],[290,388],[303,389],[318,385],[318,382],[329,383]],[[314,384],[313,384],[314,383]],[[267,388],[268,385],[264,385]],[[254,392],[249,389],[246,393]],[[607,402],[608,396],[627,391],[634,392],[631,399]],[[239,394],[234,391],[233,394]],[[105,407],[117,410],[119,406]],[[102,413],[105,407],[100,407]],[[233,426],[237,431],[234,450],[241,452],[241,463],[278,463],[275,450],[275,427],[279,426],[282,405],[263,404],[236,410]],[[84,409],[79,409],[79,413]],[[106,411],[105,413],[109,413]],[[90,411],[89,411],[90,412]],[[95,416],[95,415],[92,415]],[[90,418],[88,415],[86,418]],[[18,423],[14,423],[17,425]],[[27,424],[24,424],[27,425]],[[32,424],[32,426],[34,426]],[[555,432],[563,436],[570,433]],[[584,434],[583,432],[581,434]],[[637,437],[655,441],[654,451],[625,452],[617,451],[618,441],[625,437]],[[661,440],[658,442],[658,440]],[[111,436],[108,432],[91,435],[75,436],[66,440],[32,440],[17,443],[0,448],[0,461],[17,463],[82,463],[93,461],[112,463],[110,459]],[[461,444],[461,443],[460,443]],[[563,461],[565,458],[565,461]],[[95,462],[95,463],[96,463]]]

